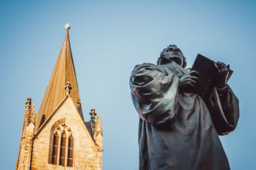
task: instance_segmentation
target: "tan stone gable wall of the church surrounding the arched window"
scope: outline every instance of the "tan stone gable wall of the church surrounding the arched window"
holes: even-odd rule
[[[86,129],[78,114],[75,104],[70,97],[56,111],[55,115],[45,126],[42,126],[40,134],[36,136],[32,148],[32,170],[40,169],[81,169],[101,170],[102,152],[97,148],[90,133]],[[52,155],[52,136],[54,126],[59,123],[67,123],[71,127],[74,136],[74,165],[63,167],[61,165],[49,164],[49,157]]]

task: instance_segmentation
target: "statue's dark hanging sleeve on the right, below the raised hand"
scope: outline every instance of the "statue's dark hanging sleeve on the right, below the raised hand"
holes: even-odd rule
[[[209,111],[219,135],[229,134],[235,130],[239,121],[239,100],[227,85],[226,89],[213,89],[209,101]]]

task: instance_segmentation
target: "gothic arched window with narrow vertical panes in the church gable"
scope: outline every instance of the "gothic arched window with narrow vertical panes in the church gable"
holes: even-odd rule
[[[50,164],[73,167],[74,137],[72,133],[73,132],[71,128],[67,126],[67,123],[60,123],[57,127],[55,127],[51,140],[52,146],[50,142]]]

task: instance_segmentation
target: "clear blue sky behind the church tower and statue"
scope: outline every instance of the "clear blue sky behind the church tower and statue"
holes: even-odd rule
[[[170,43],[189,66],[198,53],[231,65],[240,120],[220,138],[231,169],[255,167],[256,2],[2,0],[0,16],[2,169],[15,167],[24,102],[31,96],[38,111],[67,22],[83,114],[89,120],[90,108],[101,113],[103,169],[138,169],[129,76],[136,64],[155,63]]]

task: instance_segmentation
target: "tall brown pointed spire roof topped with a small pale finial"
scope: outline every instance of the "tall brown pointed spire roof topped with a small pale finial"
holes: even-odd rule
[[[69,40],[69,29],[71,26],[67,24],[65,25],[65,28],[67,30],[65,40],[38,111],[36,130],[50,115],[52,115],[52,112],[55,111],[57,106],[67,95],[74,101],[74,104],[83,119],[82,106],[78,93],[78,83],[75,75],[75,66]],[[67,93],[67,83],[70,85],[69,93]]]

